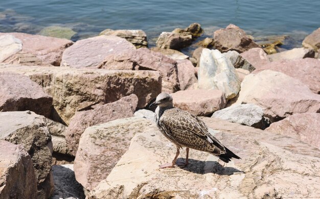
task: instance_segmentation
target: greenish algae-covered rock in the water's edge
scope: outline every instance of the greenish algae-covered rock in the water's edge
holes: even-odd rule
[[[57,38],[69,39],[69,40],[71,40],[71,38],[75,34],[76,32],[73,31],[71,28],[61,27],[61,26],[45,27],[39,32],[39,35],[57,37]]]

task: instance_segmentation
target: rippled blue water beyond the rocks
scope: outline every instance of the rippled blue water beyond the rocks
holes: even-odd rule
[[[107,28],[142,29],[152,43],[161,32],[192,22],[208,35],[234,23],[254,36],[289,34],[301,40],[320,27],[318,0],[0,0],[0,12],[1,32],[34,34],[60,25],[78,32],[73,40]]]

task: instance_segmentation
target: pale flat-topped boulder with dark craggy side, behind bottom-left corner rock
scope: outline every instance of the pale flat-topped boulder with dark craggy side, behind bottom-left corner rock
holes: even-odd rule
[[[37,197],[48,198],[53,192],[52,142],[45,117],[30,111],[0,112],[0,140],[25,147],[35,169]]]

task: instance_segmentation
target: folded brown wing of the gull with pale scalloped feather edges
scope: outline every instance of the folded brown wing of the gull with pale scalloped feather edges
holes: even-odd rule
[[[207,125],[200,118],[187,111],[177,108],[166,110],[161,116],[160,122],[167,132],[180,132],[181,135],[193,134],[202,140],[208,141],[209,143],[207,144],[215,145],[222,153],[225,151],[220,141],[209,133]]]

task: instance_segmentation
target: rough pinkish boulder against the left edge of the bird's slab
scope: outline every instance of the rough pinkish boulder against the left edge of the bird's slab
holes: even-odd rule
[[[150,124],[147,119],[131,117],[87,128],[74,163],[77,181],[88,190],[95,188],[127,151],[131,138]]]

